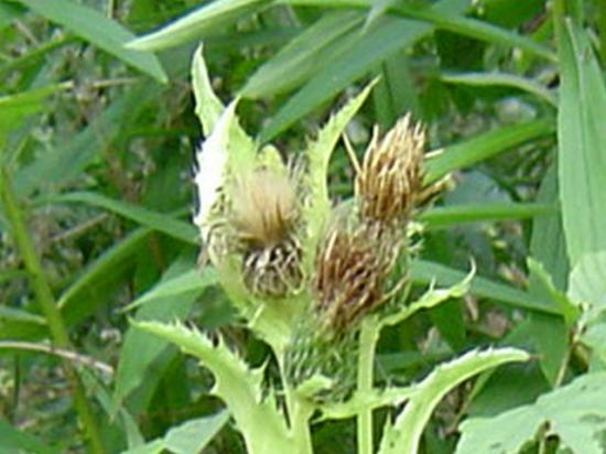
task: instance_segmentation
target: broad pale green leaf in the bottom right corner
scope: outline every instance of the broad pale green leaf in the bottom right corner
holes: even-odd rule
[[[472,418],[461,425],[456,454],[517,454],[549,424],[574,454],[602,454],[606,441],[606,372],[587,374],[570,385],[491,418]]]

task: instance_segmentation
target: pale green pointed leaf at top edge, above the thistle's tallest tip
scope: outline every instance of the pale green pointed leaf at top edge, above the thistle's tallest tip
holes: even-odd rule
[[[268,4],[268,0],[217,0],[178,18],[156,32],[128,43],[129,48],[160,51],[199,39],[209,30],[225,28],[228,22]]]

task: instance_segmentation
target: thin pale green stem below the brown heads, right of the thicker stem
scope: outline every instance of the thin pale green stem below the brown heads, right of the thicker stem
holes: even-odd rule
[[[377,315],[368,315],[361,322],[358,356],[358,396],[372,391],[375,347],[379,339]],[[358,454],[372,454],[372,409],[365,408],[358,413]]]

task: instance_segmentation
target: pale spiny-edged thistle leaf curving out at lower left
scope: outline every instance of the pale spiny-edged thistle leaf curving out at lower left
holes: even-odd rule
[[[223,399],[242,432],[251,454],[286,453],[292,440],[273,393],[263,393],[263,367],[250,369],[219,338],[213,343],[195,328],[182,324],[132,322],[195,356],[215,376],[212,392]]]

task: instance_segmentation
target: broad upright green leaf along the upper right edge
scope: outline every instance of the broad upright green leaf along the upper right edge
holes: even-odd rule
[[[606,87],[589,39],[566,21],[560,36],[559,184],[571,267],[606,249]]]

